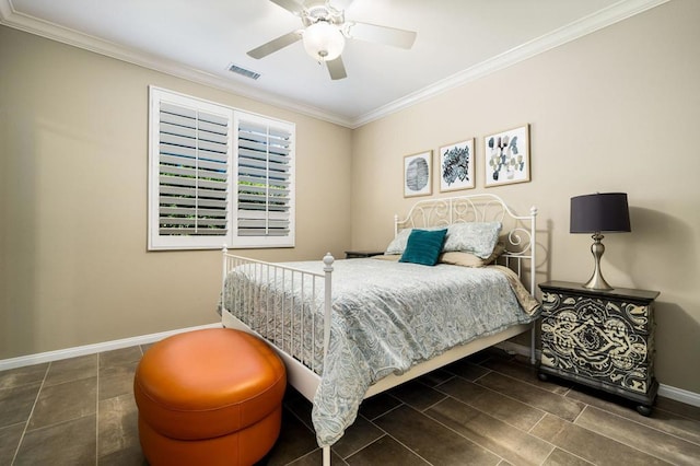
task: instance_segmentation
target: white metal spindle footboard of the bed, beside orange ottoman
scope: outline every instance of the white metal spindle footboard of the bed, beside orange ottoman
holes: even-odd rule
[[[284,360],[290,383],[307,399],[313,399],[318,387],[320,377],[317,374],[323,368],[330,341],[330,293],[334,260],[330,253],[326,254],[324,272],[315,273],[280,264],[235,256],[229,254],[225,246],[223,247],[221,318],[224,327],[256,334],[272,343]],[[287,294],[283,289],[260,287],[255,284],[253,280],[238,287],[235,293],[228,293],[226,278],[234,270],[245,272],[259,281],[280,282],[283,286],[290,284],[292,288],[296,283],[301,289],[301,296]],[[304,314],[298,315],[296,310],[300,306],[303,308],[306,303],[317,302],[320,299],[317,293],[323,293],[323,319],[320,323],[315,319],[305,323]],[[272,300],[277,300],[275,308]],[[298,300],[301,300],[301,303]],[[260,303],[267,305],[259,306]],[[232,312],[231,307],[236,312]],[[262,314],[260,308],[265,310]],[[253,325],[255,322],[262,322],[265,325]],[[307,345],[310,348],[304,348],[304,338],[295,334],[294,330],[295,327],[304,329],[308,325],[311,325],[311,331],[306,335],[311,338],[311,342]],[[313,354],[313,349],[319,345],[316,340],[317,325],[323,328],[323,362],[319,362],[318,358],[314,358]],[[290,328],[284,328],[285,326],[290,326]],[[276,333],[275,330],[279,328],[281,331]]]

